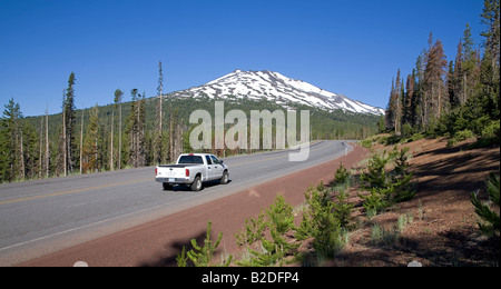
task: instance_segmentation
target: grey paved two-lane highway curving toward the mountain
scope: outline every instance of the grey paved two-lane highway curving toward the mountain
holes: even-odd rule
[[[230,182],[207,183],[199,192],[163,190],[155,182],[155,167],[0,185],[0,266],[229,196],[351,150],[344,141],[321,141],[303,162],[289,162],[288,150],[226,158]]]

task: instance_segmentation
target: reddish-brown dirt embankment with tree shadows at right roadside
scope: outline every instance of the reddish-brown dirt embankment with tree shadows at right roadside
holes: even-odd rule
[[[406,266],[416,260],[423,266],[499,266],[500,239],[479,232],[470,195],[480,189],[479,198],[488,199],[485,181],[490,172],[499,173],[500,148],[469,149],[473,142],[465,140],[449,148],[446,139],[440,138],[399,144],[399,149],[410,148],[409,170],[414,172],[415,197],[370,221],[361,217],[365,223],[350,233],[348,245],[326,265]],[[372,150],[392,149],[376,144]],[[351,196],[360,203],[356,190]],[[355,213],[362,216],[360,207]],[[403,216],[407,222],[399,238],[374,245],[374,225],[391,231]]]

